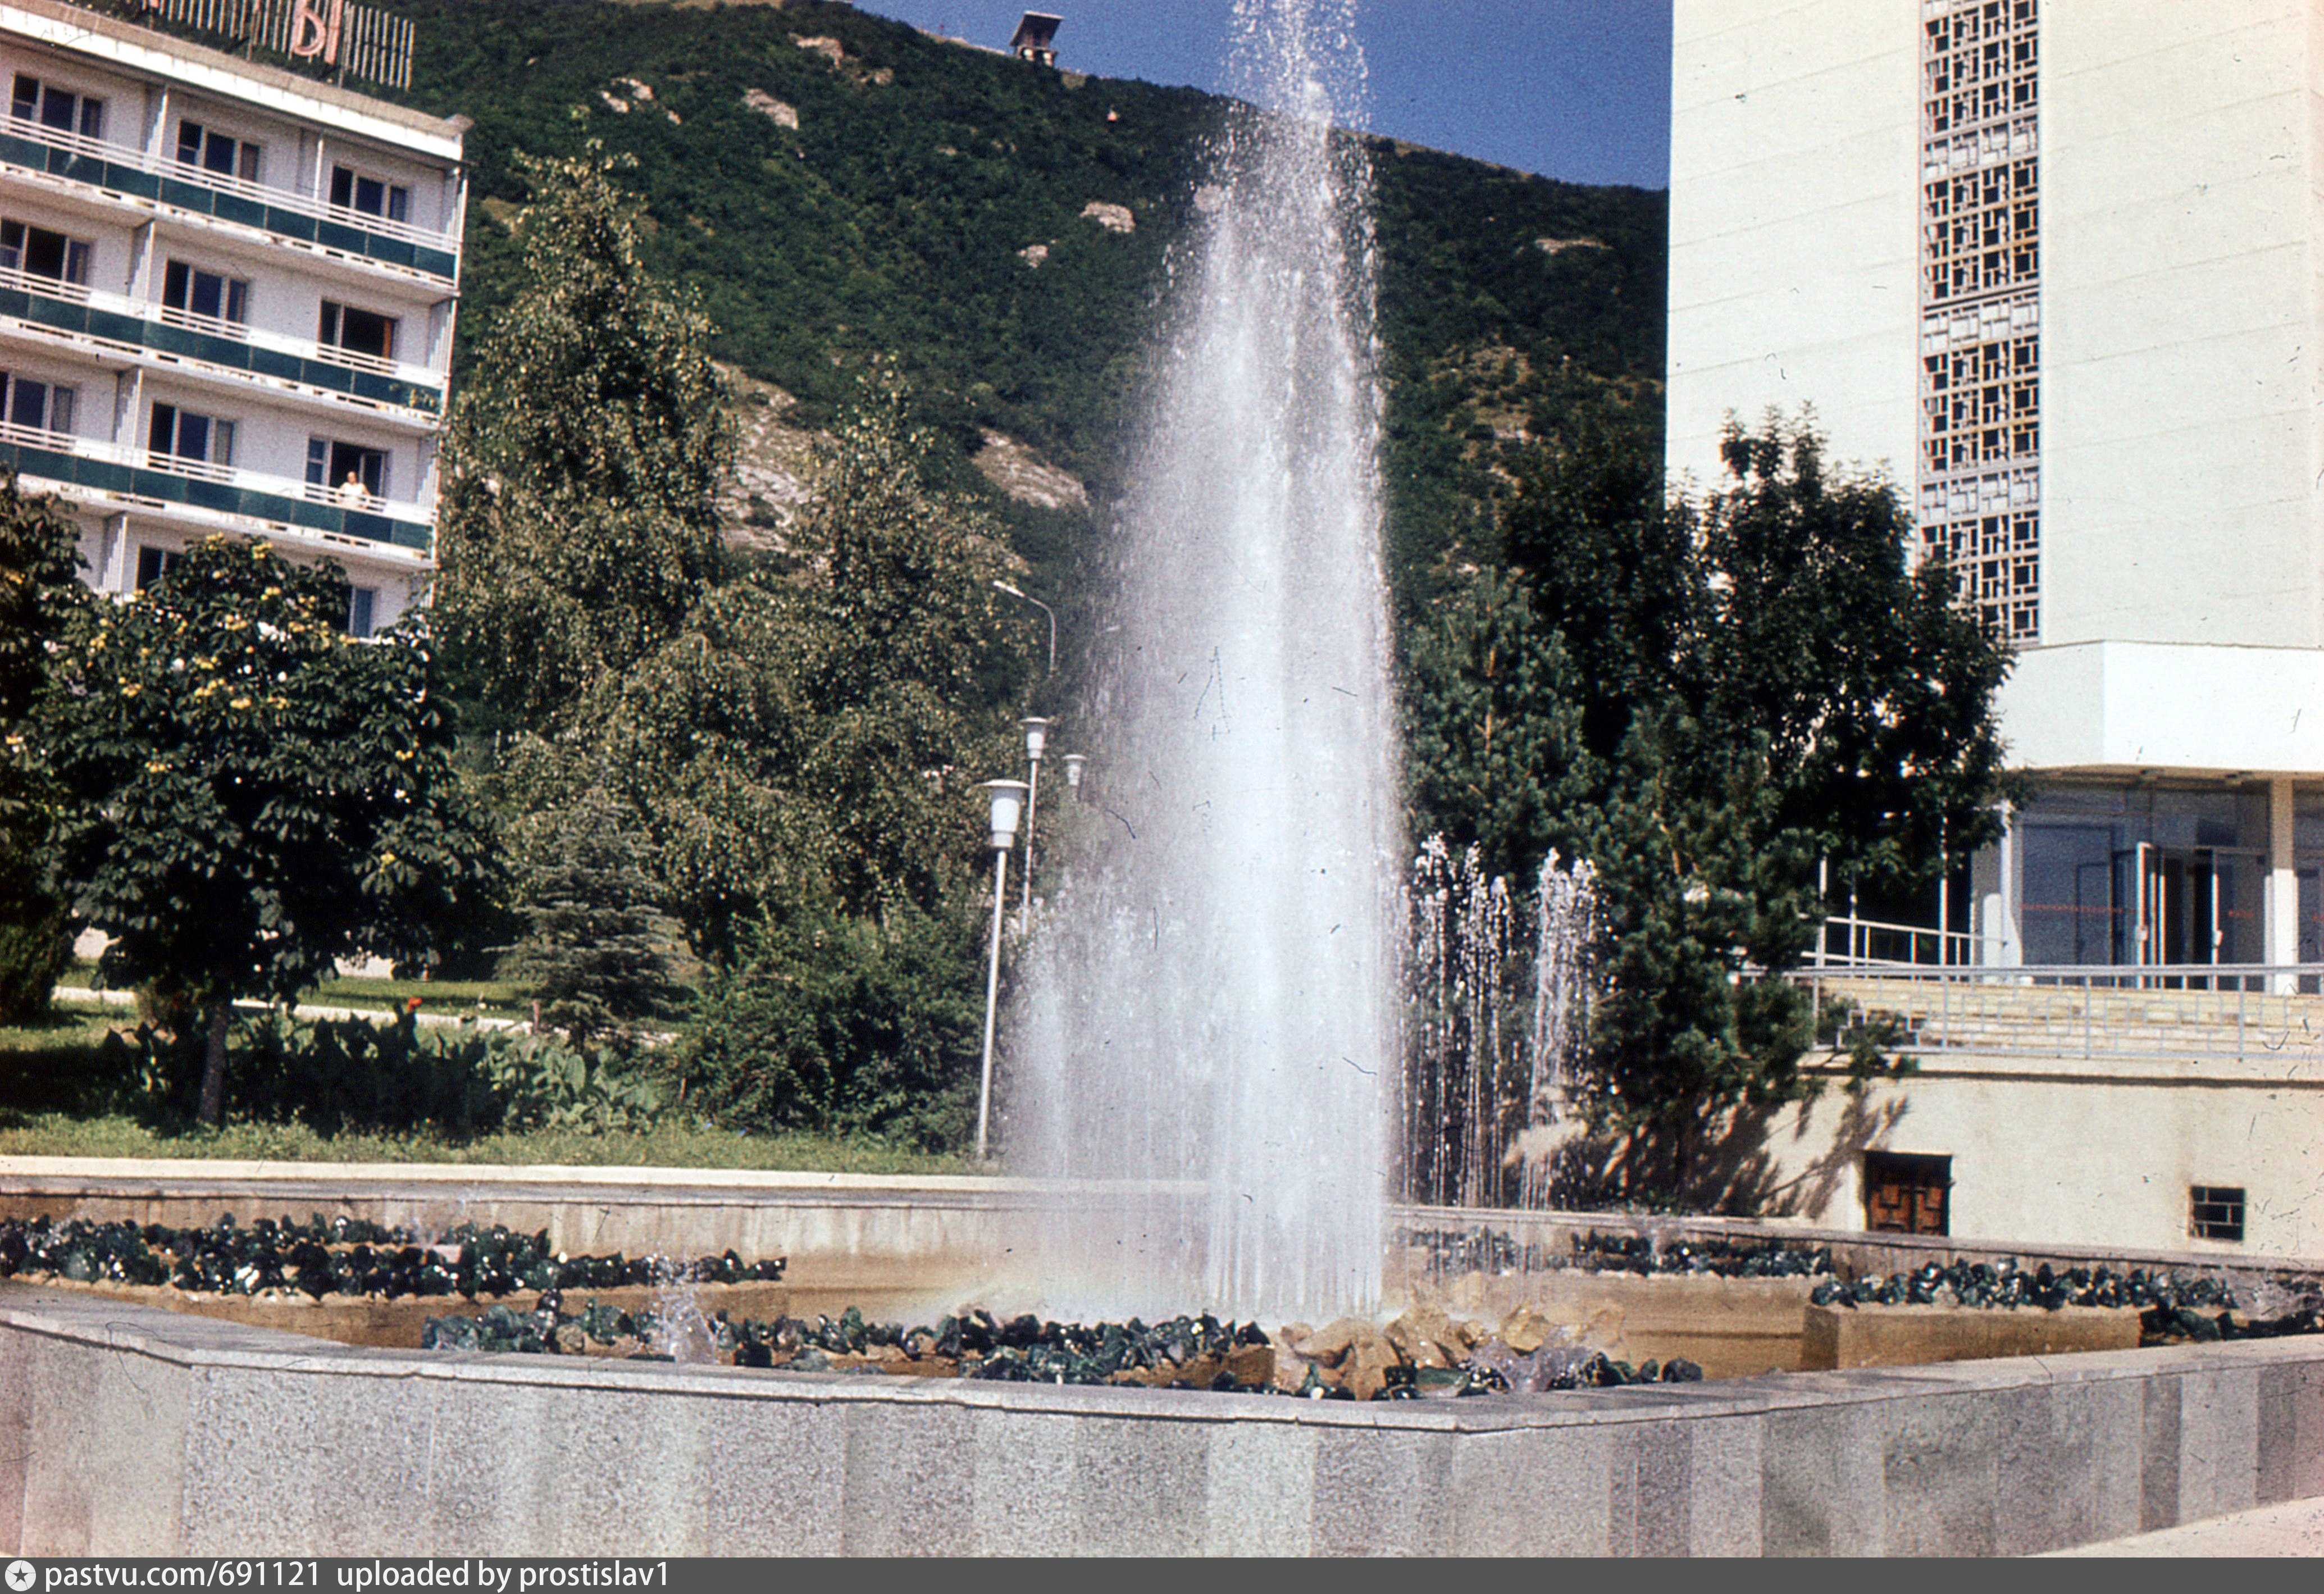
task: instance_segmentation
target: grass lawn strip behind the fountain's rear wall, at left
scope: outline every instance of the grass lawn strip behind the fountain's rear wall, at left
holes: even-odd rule
[[[388,981],[365,981],[388,983]],[[107,1018],[58,1008],[0,1027],[0,1157],[214,1157],[253,1162],[486,1162],[500,1166],[783,1169],[802,1173],[976,1173],[969,1157],[818,1134],[741,1136],[662,1122],[634,1134],[316,1134],[300,1122],[170,1122],[146,1108],[132,1053],[105,1053]],[[135,1022],[135,1020],[130,1020]],[[228,1115],[235,1101],[228,1099]]]

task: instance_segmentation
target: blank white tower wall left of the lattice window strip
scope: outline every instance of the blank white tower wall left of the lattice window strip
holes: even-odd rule
[[[1910,490],[1920,7],[1676,0],[1669,465],[1720,481],[1729,411],[1813,404]]]

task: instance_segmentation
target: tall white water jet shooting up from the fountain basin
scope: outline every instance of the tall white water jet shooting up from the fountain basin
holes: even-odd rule
[[[1118,523],[1106,841],[1016,1025],[1048,1299],[1315,1315],[1380,1285],[1399,799],[1348,7],[1243,0]]]

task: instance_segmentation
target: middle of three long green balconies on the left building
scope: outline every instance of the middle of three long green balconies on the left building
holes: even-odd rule
[[[86,339],[114,358],[167,365],[172,372],[295,383],[323,400],[407,409],[423,425],[444,411],[444,379],[425,365],[400,365],[35,272],[0,270],[0,316],[30,323],[35,335]]]

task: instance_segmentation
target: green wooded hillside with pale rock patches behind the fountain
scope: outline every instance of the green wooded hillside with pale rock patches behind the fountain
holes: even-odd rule
[[[702,290],[720,358],[795,393],[799,423],[820,425],[865,358],[895,353],[962,483],[983,486],[964,462],[988,428],[1099,500],[1118,483],[1162,265],[1225,102],[844,5],[400,9],[418,26],[409,100],[476,123],[462,346],[509,293],[495,216],[523,198],[511,151],[602,139],[637,158],[653,265]],[[1413,597],[1473,530],[1504,455],[1583,407],[1652,421],[1664,198],[1387,142],[1373,165],[1394,565]],[[1092,202],[1127,207],[1134,230],[1083,216]],[[1037,576],[1069,588],[1085,516],[1006,511]]]

